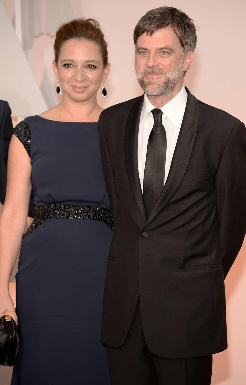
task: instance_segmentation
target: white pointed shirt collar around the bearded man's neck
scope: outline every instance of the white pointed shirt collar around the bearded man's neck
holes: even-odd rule
[[[187,97],[188,97],[188,94],[187,94],[186,89],[184,88],[184,85],[183,85],[180,92],[173,99],[171,99],[168,103],[163,105],[163,107],[161,107],[161,111],[163,112],[163,114],[166,115],[166,117],[173,123],[173,125],[176,128],[179,128],[180,122],[183,119],[184,110],[185,110],[186,102],[187,102]],[[143,124],[147,115],[154,108],[156,108],[156,107],[153,106],[153,104],[150,102],[150,100],[147,98],[147,96],[145,94],[143,107],[142,107],[142,111],[141,111],[141,116],[140,116],[139,127]]]

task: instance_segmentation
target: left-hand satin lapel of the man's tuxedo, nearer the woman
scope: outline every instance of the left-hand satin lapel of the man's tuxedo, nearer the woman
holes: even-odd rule
[[[139,97],[130,110],[125,131],[125,160],[131,191],[138,209],[146,221],[145,203],[138,173],[138,131],[144,96]]]

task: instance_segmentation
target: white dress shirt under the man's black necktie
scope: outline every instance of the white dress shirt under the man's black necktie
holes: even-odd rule
[[[166,164],[164,184],[166,183],[166,178],[168,177],[178,134],[180,133],[187,97],[188,95],[183,85],[180,92],[173,99],[171,99],[170,102],[161,107],[161,111],[163,112],[162,124],[166,130]],[[151,110],[154,108],[156,107],[151,104],[145,94],[138,131],[138,172],[142,192],[148,140],[154,125],[154,117]]]

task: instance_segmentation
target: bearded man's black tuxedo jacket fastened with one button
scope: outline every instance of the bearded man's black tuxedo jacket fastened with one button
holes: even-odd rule
[[[140,296],[147,346],[166,358],[226,349],[224,277],[246,231],[245,126],[186,90],[170,172],[148,218],[137,158],[143,96],[98,122],[115,224],[101,339],[123,344]]]

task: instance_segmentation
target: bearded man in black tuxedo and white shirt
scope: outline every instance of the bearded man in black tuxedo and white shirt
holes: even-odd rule
[[[99,119],[115,232],[101,339],[112,384],[208,385],[227,347],[224,278],[246,231],[246,132],[183,86],[196,47],[185,13],[134,32],[141,97]]]

